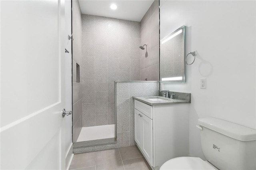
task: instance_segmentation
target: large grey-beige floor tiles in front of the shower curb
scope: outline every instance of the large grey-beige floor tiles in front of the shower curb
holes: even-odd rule
[[[75,154],[70,170],[151,170],[136,146]]]

